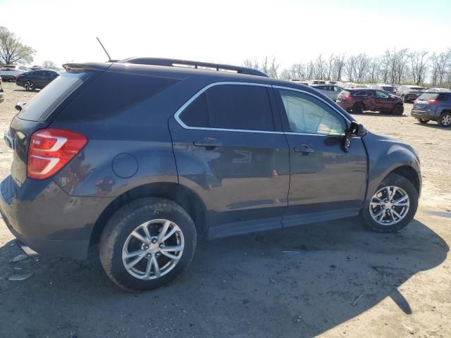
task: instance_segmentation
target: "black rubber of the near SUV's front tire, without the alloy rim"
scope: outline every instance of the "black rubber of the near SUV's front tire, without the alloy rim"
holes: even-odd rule
[[[404,192],[407,193],[407,196],[409,196],[409,211],[407,212],[407,215],[404,217],[403,220],[401,220],[398,223],[395,223],[394,225],[381,225],[377,223],[373,218],[371,218],[370,212],[369,212],[369,203],[371,201],[371,198],[373,194],[375,194],[379,189],[382,189],[383,187],[388,186],[395,186],[400,187],[404,190]],[[403,227],[407,226],[414,218],[414,215],[416,213],[416,209],[418,208],[418,192],[416,191],[416,188],[414,187],[414,184],[407,180],[406,177],[403,177],[401,175],[397,174],[390,174],[379,184],[378,188],[376,189],[376,192],[372,192],[371,196],[369,198],[369,201],[366,202],[364,205],[364,208],[362,208],[362,211],[360,212],[362,221],[366,227],[369,229],[376,231],[376,232],[398,232]]]

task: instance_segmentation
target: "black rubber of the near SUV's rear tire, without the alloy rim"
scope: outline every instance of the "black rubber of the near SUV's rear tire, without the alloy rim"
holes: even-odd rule
[[[113,215],[101,235],[100,256],[106,273],[113,282],[131,291],[156,289],[173,282],[190,264],[196,249],[196,230],[190,216],[177,204],[164,199],[141,199],[132,202],[132,208],[126,207]],[[166,275],[156,280],[140,280],[130,275],[123,265],[123,245],[138,225],[160,218],[171,220],[182,230],[185,239],[183,254]]]

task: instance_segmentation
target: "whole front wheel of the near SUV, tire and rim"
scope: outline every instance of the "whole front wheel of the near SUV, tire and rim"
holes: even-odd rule
[[[392,198],[393,201],[398,201],[397,203],[401,205],[393,207],[390,206],[391,203],[388,205],[385,204],[384,206],[378,205],[381,204],[381,202],[385,202],[384,197],[387,196],[387,187],[390,187],[390,193],[393,193],[395,190],[394,188],[397,188],[395,190],[395,195],[392,196]],[[376,195],[378,195],[378,197]],[[362,218],[364,225],[375,232],[398,232],[410,223],[414,218],[416,208],[418,208],[418,192],[416,191],[414,184],[407,180],[406,177],[395,173],[385,177],[376,192],[371,196],[371,199],[369,199],[364,208],[362,208],[360,217]],[[403,196],[407,196],[407,200],[403,198]],[[393,211],[395,211],[397,215],[402,216],[402,218],[398,218]],[[376,219],[380,219],[375,220],[374,216],[376,216]],[[395,221],[395,223],[390,224],[390,220]]]

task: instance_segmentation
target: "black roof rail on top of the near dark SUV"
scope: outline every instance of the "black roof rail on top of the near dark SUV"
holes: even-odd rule
[[[230,73],[247,74],[247,75],[257,75],[268,77],[265,73],[257,69],[239,67],[236,65],[222,65],[220,63],[209,63],[209,62],[197,62],[188,60],[178,60],[176,58],[141,58],[132,57],[125,58],[120,63],[136,63],[140,65],[163,65],[167,67],[185,67],[203,70],[216,70]]]

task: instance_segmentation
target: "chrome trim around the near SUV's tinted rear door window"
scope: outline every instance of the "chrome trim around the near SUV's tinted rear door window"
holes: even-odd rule
[[[233,81],[221,81],[221,82],[213,82],[211,84],[206,85],[204,88],[200,89],[199,92],[191,96],[191,98],[183,104],[174,114],[175,120],[178,122],[179,125],[184,127],[185,129],[194,129],[194,130],[217,130],[218,132],[258,132],[258,133],[264,133],[264,134],[283,134],[283,132],[271,132],[269,130],[245,130],[245,129],[225,129],[225,128],[209,128],[209,127],[191,127],[190,125],[185,125],[183,123],[183,120],[180,119],[180,113],[182,113],[187,106],[190,106],[192,101],[197,99],[199,96],[201,96],[206,90],[210,89],[211,87],[215,86],[221,86],[221,85],[228,85],[228,84],[239,84],[239,85],[245,85],[245,86],[255,86],[255,87],[266,87],[271,88],[271,84],[263,84],[263,83],[256,83],[256,82],[233,82]],[[274,112],[273,112],[274,113]]]

